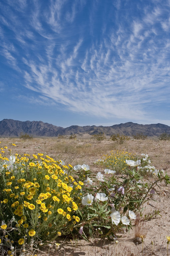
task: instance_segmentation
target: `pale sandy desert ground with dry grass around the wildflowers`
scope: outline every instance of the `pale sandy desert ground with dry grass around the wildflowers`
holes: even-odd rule
[[[147,138],[146,140],[129,140],[123,144],[110,141],[109,137],[101,142],[91,139],[89,135],[77,136],[70,140],[65,138],[33,138],[32,140],[21,140],[19,138],[0,138],[1,145],[11,148],[15,143],[15,151],[19,154],[45,153],[56,160],[64,160],[66,164],[88,164],[90,169],[97,173],[102,168],[94,165],[96,159],[110,153],[111,150],[124,150],[129,153],[150,156],[151,164],[157,169],[164,169],[170,175],[170,141],[160,141],[158,138]],[[167,255],[166,235],[170,235],[170,185],[161,184],[159,194],[153,195],[154,201],[145,205],[143,216],[158,211],[160,215],[156,218],[142,222],[138,226],[124,234],[118,234],[116,244],[113,241],[91,239],[87,242],[81,238],[61,238],[54,241],[51,247],[42,248],[42,251],[35,252],[37,255],[61,255],[61,256],[165,256]],[[136,228],[146,237],[134,241]],[[55,242],[60,243],[56,250]],[[170,255],[170,247],[168,250]]]

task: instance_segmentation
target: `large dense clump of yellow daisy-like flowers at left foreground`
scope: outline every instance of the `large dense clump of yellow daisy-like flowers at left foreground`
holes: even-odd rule
[[[1,150],[5,152],[5,149]],[[18,240],[19,245],[25,244],[29,237],[35,235],[43,241],[41,236],[44,236],[44,230],[47,230],[46,234],[49,236],[55,234],[48,228],[63,230],[66,227],[67,230],[68,225],[68,229],[73,229],[80,221],[73,214],[78,210],[84,183],[76,182],[70,175],[73,166],[62,165],[62,161],[55,161],[43,153],[33,155],[31,161],[29,156],[16,153],[13,168],[8,166],[11,158],[0,156],[0,168],[3,167],[5,177],[1,210],[6,215],[8,213],[5,211],[10,211],[9,215],[15,215],[16,227],[19,227],[19,232],[24,237]],[[39,229],[39,225],[44,225],[44,228]],[[7,225],[1,225],[1,229],[7,229]],[[61,236],[58,230],[57,235]]]

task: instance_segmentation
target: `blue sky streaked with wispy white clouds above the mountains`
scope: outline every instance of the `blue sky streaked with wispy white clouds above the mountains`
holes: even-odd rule
[[[1,0],[0,120],[170,126],[170,0]]]

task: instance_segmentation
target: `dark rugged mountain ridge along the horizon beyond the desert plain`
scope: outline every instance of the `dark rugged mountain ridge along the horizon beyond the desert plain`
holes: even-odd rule
[[[170,134],[170,126],[165,124],[137,124],[132,122],[115,124],[112,126],[78,126],[72,125],[67,128],[44,123],[42,121],[17,121],[13,119],[3,119],[0,121],[0,136],[18,137],[21,133],[27,133],[34,137],[57,137],[59,135],[71,135],[88,133],[90,135],[104,132],[105,135],[115,133],[127,136],[143,133],[147,136],[159,136],[162,133]]]

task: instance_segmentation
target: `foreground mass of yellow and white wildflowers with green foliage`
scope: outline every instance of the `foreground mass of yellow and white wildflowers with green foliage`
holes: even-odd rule
[[[148,163],[144,154],[142,162],[124,152],[125,174],[118,176],[111,169],[94,175],[86,164],[67,166],[42,153],[20,156],[6,149],[1,148],[0,155],[0,253],[4,255],[9,250],[14,254],[14,248],[18,255],[23,250],[33,252],[59,236],[112,239],[131,228],[135,212],[141,211],[158,182],[170,183],[168,175],[149,166],[153,179],[144,179],[140,172]],[[134,160],[127,160],[128,156]]]

